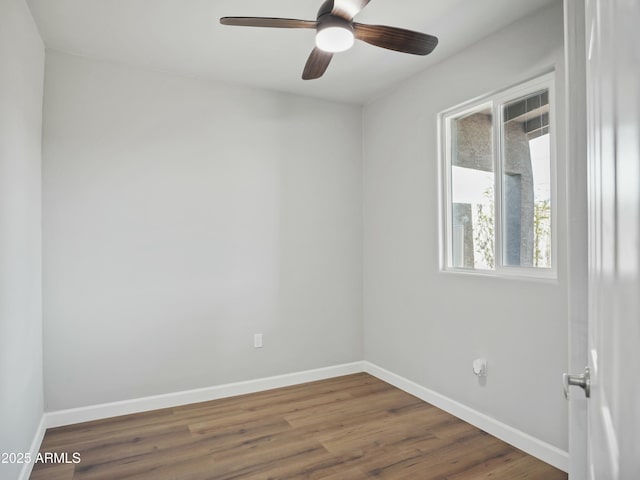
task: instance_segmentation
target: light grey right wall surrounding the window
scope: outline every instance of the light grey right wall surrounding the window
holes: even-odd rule
[[[439,272],[437,115],[556,70],[562,2],[398,85],[364,110],[365,359],[566,451],[566,215],[557,282]],[[558,144],[559,197],[564,146]],[[486,385],[471,362],[489,362]]]

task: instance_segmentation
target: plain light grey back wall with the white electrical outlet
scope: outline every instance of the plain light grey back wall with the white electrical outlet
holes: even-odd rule
[[[48,411],[362,359],[359,107],[48,52],[44,118]]]

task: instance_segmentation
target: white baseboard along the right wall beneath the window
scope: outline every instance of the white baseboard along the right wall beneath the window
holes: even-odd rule
[[[365,361],[363,364],[364,371],[370,375],[390,383],[391,385],[398,387],[399,389],[404,390],[405,392],[410,393],[411,395],[414,395],[419,399],[480,428],[481,430],[484,430],[494,437],[519,448],[529,455],[539,458],[543,462],[568,472],[569,454],[564,450],[510,427],[495,418],[491,418],[488,415],[463,405],[462,403],[456,402],[455,400],[436,393],[433,390],[429,390],[422,385],[418,385],[411,380],[396,375],[395,373],[385,370],[371,362]]]

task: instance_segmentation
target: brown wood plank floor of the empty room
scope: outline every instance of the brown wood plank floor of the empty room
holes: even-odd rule
[[[80,462],[32,480],[567,478],[366,373],[50,429],[41,452]]]

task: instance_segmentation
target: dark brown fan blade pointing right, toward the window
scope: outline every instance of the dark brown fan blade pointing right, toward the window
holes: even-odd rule
[[[354,23],[353,27],[358,40],[397,52],[428,55],[438,45],[438,38],[433,35],[403,28],[362,23]]]

